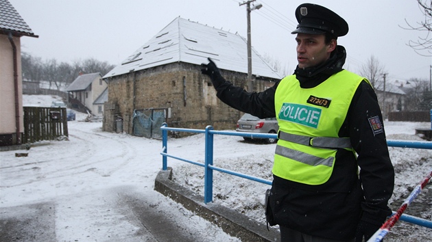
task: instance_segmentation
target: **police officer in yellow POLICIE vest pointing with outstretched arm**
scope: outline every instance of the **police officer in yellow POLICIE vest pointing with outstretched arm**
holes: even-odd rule
[[[311,3],[296,18],[298,66],[272,88],[245,92],[211,59],[202,73],[227,105],[278,119],[267,221],[281,240],[368,240],[391,215],[394,188],[378,100],[368,79],[342,68],[345,20]]]

